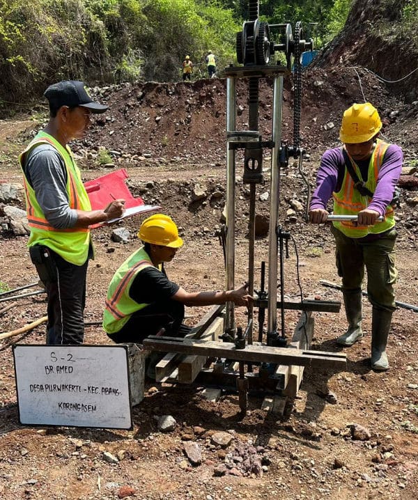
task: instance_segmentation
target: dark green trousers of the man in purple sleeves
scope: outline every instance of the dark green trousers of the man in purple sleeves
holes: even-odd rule
[[[385,311],[395,310],[394,283],[396,230],[392,228],[373,241],[350,238],[331,226],[336,242],[336,267],[342,278],[343,292],[362,290],[364,268],[367,272],[367,295],[371,304]]]

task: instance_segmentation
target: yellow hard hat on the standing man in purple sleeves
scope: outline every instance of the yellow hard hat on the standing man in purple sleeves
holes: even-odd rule
[[[369,141],[382,128],[378,110],[370,104],[353,104],[346,109],[340,129],[341,142],[357,144]]]

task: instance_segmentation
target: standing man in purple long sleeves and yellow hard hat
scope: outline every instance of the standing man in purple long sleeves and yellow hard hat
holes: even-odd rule
[[[371,368],[387,370],[387,338],[395,310],[394,194],[403,153],[396,144],[378,139],[382,122],[369,102],[344,111],[339,138],[342,147],[325,151],[320,161],[309,217],[327,221],[327,202],[334,198],[334,214],[357,215],[357,221],[333,221],[336,265],[348,330],[336,339],[350,346],[362,338],[362,283],[367,272],[367,294],[372,305]],[[378,221],[382,216],[383,220]]]

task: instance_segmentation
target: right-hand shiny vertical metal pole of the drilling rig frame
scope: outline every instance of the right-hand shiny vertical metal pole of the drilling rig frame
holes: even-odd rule
[[[270,180],[270,225],[268,254],[268,333],[277,331],[277,219],[279,216],[279,152],[281,148],[281,114],[283,102],[283,77],[274,77],[272,164]]]

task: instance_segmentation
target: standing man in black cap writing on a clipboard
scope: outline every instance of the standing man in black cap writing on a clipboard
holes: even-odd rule
[[[82,139],[94,102],[82,81],[60,81],[45,91],[49,122],[20,155],[26,213],[31,227],[29,253],[48,293],[47,344],[79,344],[84,338],[88,259],[93,257],[89,226],[121,217],[124,201],[91,210],[79,169],[68,147]]]

